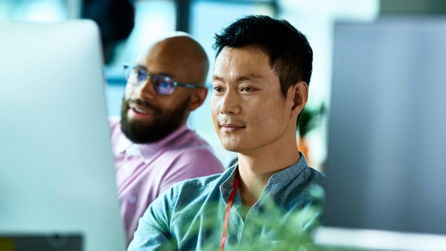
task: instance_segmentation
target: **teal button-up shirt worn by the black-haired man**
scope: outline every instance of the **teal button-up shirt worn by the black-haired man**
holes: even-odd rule
[[[128,250],[219,250],[226,203],[238,167],[176,183],[139,220]],[[325,175],[305,156],[273,174],[259,201],[243,210],[237,191],[229,213],[225,250],[297,250],[321,215]]]

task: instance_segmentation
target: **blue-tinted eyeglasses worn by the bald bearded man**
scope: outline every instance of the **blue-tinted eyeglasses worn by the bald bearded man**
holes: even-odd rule
[[[145,70],[137,66],[124,65],[124,73],[127,82],[129,84],[133,84],[134,86],[144,84],[147,81],[147,78],[151,77],[153,89],[155,89],[155,92],[158,95],[170,95],[174,93],[177,86],[186,88],[201,88],[201,86],[197,84],[178,83],[174,79],[166,75],[155,75],[147,73]]]

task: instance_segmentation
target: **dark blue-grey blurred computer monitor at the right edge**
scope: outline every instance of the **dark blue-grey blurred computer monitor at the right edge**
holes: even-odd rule
[[[335,24],[325,227],[446,235],[445,45],[446,17]]]

